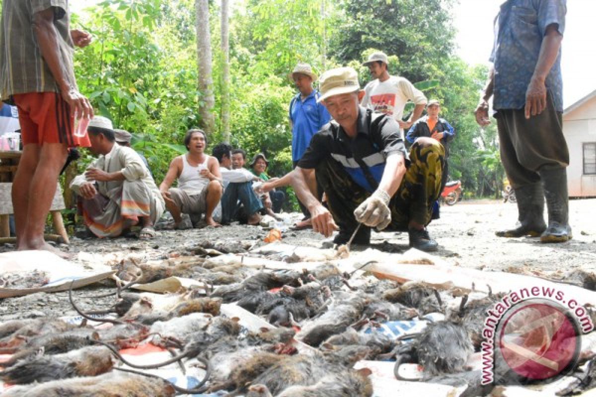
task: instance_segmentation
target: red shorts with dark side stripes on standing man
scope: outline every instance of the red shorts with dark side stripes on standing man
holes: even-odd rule
[[[69,148],[89,147],[89,136],[73,135],[75,116],[59,93],[31,92],[13,95],[21,124],[21,141],[44,145],[64,143]]]

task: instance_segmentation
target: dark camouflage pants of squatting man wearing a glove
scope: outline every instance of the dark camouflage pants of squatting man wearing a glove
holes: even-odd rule
[[[411,164],[389,202],[391,223],[386,229],[388,231],[405,232],[410,221],[425,226],[429,224],[433,203],[439,199],[441,192],[445,165],[443,145],[436,141],[415,142],[409,157]],[[325,192],[327,206],[340,230],[354,230],[358,222],[353,212],[371,193],[354,182],[331,157],[316,167],[316,180]]]

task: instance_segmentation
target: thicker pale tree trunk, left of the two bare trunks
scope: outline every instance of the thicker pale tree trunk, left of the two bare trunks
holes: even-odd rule
[[[211,55],[211,34],[209,32],[209,2],[207,0],[196,0],[195,8],[197,10],[197,69],[198,69],[198,90],[203,93],[199,106],[201,115],[201,127],[207,135],[211,135],[215,130],[215,116],[213,108],[215,107],[215,96],[213,95],[213,76],[212,76],[212,55]]]

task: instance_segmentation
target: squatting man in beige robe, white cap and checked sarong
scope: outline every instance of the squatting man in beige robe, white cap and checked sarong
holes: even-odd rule
[[[116,143],[112,123],[96,116],[89,123],[91,151],[99,155],[70,187],[81,196],[83,220],[98,237],[120,236],[139,224],[140,239],[155,236],[164,201],[141,157]]]

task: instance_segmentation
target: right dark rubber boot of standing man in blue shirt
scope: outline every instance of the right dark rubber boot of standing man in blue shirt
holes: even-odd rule
[[[547,198],[548,227],[540,236],[541,243],[561,243],[572,239],[569,226],[569,193],[566,168],[540,170],[540,179]]]

